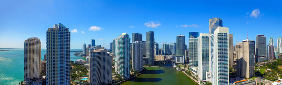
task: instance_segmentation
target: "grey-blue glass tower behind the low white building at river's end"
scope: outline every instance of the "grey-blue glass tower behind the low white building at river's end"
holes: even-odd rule
[[[185,36],[178,35],[176,37],[176,55],[185,55]]]

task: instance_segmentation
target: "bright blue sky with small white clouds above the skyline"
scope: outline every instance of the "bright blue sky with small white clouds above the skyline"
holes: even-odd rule
[[[281,1],[0,1],[0,48],[23,48],[29,37],[41,39],[46,47],[46,31],[62,23],[71,33],[71,49],[82,44],[96,44],[110,48],[121,33],[155,32],[155,42],[176,42],[176,36],[188,32],[208,33],[210,18],[219,17],[223,27],[233,34],[233,44],[257,34],[282,37]],[[254,12],[253,12],[254,11]],[[252,13],[253,12],[253,13]],[[90,30],[89,30],[90,29]],[[84,33],[82,33],[83,31]]]

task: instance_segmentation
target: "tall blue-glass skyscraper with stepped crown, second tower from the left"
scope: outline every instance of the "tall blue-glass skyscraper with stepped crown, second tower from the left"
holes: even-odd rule
[[[46,55],[46,85],[70,85],[69,28],[59,23],[47,30]]]

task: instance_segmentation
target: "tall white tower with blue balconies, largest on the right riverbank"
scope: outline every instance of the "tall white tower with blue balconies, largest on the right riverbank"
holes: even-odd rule
[[[228,36],[228,28],[221,26],[210,35],[210,71],[213,85],[229,84]]]

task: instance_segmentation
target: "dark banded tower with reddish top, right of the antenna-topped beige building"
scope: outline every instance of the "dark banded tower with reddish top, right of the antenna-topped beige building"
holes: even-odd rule
[[[267,52],[266,52],[266,37],[265,35],[257,35],[255,37],[255,62],[265,61],[267,60]]]

